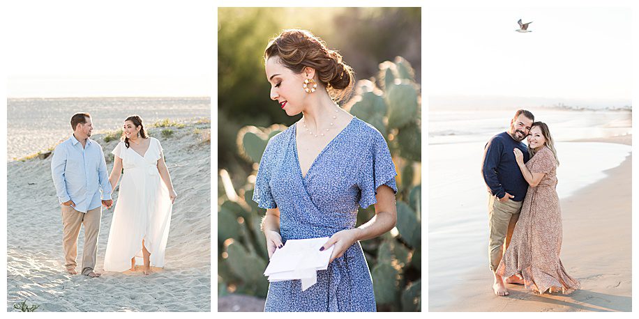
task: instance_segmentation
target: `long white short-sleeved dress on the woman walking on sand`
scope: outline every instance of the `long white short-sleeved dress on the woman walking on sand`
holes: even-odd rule
[[[122,159],[123,173],[107,242],[106,271],[130,269],[134,256],[135,264],[143,265],[143,239],[151,253],[151,266],[164,267],[173,205],[157,166],[162,146],[158,139],[149,139],[144,156],[124,142],[112,151]]]

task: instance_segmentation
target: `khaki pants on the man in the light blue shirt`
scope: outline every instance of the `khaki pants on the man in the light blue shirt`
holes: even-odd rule
[[[78,212],[71,206],[62,205],[62,247],[66,270],[75,270],[77,263],[77,236],[84,225],[84,251],[82,252],[82,274],[89,274],[96,267],[98,259],[98,233],[102,206],[86,213]]]

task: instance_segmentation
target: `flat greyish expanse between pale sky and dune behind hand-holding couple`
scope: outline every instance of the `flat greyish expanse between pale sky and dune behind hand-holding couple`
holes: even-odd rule
[[[47,150],[71,130],[70,118],[89,112],[93,133],[116,130],[130,115],[144,125],[157,120],[211,117],[211,100],[202,98],[18,98],[7,99],[7,160]]]

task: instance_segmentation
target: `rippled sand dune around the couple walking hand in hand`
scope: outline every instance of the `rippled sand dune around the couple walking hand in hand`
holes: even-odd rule
[[[149,276],[140,271],[105,272],[96,279],[67,274],[51,157],[8,162],[7,311],[24,300],[39,305],[37,311],[211,311],[210,121],[185,124],[168,127],[170,137],[162,134],[167,127],[147,128],[162,143],[178,194],[165,267]],[[103,146],[110,172],[108,157],[119,139],[105,142],[104,136],[94,131],[91,139]],[[113,198],[117,201],[118,189]],[[103,272],[114,208],[103,208],[97,272]],[[83,240],[81,231],[78,267]]]

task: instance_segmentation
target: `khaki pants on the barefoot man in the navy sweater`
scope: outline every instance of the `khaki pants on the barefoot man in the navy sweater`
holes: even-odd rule
[[[490,270],[493,272],[497,270],[499,262],[502,261],[502,256],[511,242],[522,204],[520,201],[511,199],[502,203],[497,197],[488,193],[488,219],[490,223],[488,262]]]

